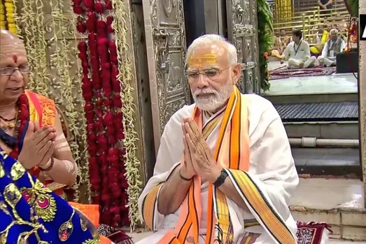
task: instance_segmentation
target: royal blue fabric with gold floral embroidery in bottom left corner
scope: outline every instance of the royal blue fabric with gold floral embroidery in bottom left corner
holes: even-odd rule
[[[88,219],[0,148],[0,244],[99,243]]]

